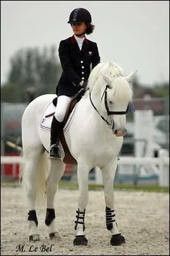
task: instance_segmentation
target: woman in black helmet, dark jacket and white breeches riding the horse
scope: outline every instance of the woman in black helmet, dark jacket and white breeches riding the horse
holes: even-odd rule
[[[59,59],[63,72],[56,88],[58,102],[50,129],[49,158],[61,159],[58,147],[66,108],[73,97],[86,86],[91,69],[100,63],[98,47],[85,36],[93,33],[91,14],[84,8],[76,8],[70,13],[68,22],[73,36],[59,44]]]

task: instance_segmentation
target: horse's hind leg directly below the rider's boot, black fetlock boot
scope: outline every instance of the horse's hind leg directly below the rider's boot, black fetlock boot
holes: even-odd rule
[[[65,164],[62,161],[50,160],[50,173],[46,181],[47,212],[45,224],[49,227],[50,239],[58,237],[56,228],[56,215],[54,210],[54,196],[56,195],[58,182],[65,172]]]

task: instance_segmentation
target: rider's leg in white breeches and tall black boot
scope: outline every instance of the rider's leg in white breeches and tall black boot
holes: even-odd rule
[[[58,97],[58,103],[56,106],[56,112],[52,118],[52,124],[50,129],[50,158],[61,159],[61,152],[58,148],[59,136],[62,129],[62,123],[65,118],[66,108],[70,104],[72,97],[61,95]]]

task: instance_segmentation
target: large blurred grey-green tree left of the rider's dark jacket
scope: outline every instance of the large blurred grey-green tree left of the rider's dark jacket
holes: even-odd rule
[[[61,65],[56,56],[56,46],[19,49],[10,60],[8,81],[1,86],[1,99],[8,102],[26,102],[29,88],[35,88],[34,97],[55,93]],[[32,90],[33,91],[33,90]]]

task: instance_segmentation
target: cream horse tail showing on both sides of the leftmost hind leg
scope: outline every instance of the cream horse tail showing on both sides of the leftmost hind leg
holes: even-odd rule
[[[27,187],[27,173],[26,173],[26,161],[24,159],[24,154],[20,155],[23,157],[23,162],[20,164],[20,172],[19,172],[19,183],[20,187],[24,191],[24,198],[26,196],[26,187]],[[46,193],[45,193],[45,182],[49,175],[50,170],[50,161],[47,157],[47,153],[44,152],[40,158],[38,159],[38,167],[37,167],[37,191],[36,191],[36,205],[42,206],[45,205],[46,202]]]

